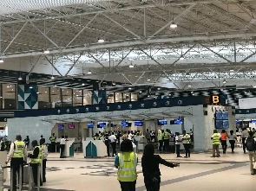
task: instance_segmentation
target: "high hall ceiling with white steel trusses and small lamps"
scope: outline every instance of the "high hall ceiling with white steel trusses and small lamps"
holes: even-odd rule
[[[241,80],[255,86],[255,14],[255,0],[2,0],[0,57],[22,66],[38,58],[56,80],[179,90],[240,86]],[[35,67],[28,66],[20,70]]]

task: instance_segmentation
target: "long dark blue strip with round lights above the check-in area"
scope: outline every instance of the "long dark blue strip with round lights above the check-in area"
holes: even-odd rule
[[[45,110],[28,110],[16,111],[15,118],[50,116],[50,115],[64,115],[64,114],[78,114],[88,112],[102,112],[102,111],[125,111],[125,110],[139,110],[152,109],[160,107],[174,107],[174,106],[188,106],[188,105],[209,105],[211,103],[210,97],[189,97],[189,98],[172,98],[172,99],[150,99],[145,101],[133,101],[125,103],[104,104],[104,105],[83,105],[74,107],[62,107]],[[225,103],[223,103],[225,104]]]

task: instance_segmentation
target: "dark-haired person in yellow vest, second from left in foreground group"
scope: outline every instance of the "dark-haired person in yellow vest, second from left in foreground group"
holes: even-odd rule
[[[34,177],[34,184],[37,187],[37,174],[38,169],[41,169],[42,159],[43,159],[43,151],[41,150],[40,146],[38,146],[38,143],[36,140],[32,141],[32,146],[34,148],[33,154],[29,154],[29,157],[31,159],[30,166],[32,167],[32,173]],[[43,186],[42,177],[40,173],[40,186]]]

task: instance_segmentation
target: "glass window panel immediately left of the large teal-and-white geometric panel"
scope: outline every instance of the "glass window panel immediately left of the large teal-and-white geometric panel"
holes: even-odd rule
[[[3,109],[16,109],[16,85],[3,84]]]

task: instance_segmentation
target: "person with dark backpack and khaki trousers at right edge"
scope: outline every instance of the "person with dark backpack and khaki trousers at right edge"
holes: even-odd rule
[[[256,138],[253,137],[253,131],[250,131],[249,137],[246,138],[246,150],[248,150],[251,175],[255,175],[255,169],[253,169],[253,162],[256,162]]]

